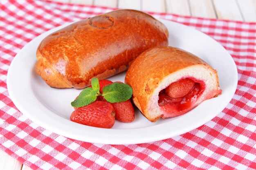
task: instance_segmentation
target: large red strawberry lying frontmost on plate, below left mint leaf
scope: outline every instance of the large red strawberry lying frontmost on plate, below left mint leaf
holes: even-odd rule
[[[115,123],[115,110],[109,102],[94,101],[73,111],[70,120],[88,126],[111,128]]]

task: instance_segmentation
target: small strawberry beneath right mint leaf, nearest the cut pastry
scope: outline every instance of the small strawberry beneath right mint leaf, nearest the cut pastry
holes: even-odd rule
[[[125,102],[112,103],[115,110],[115,118],[120,122],[129,123],[135,118],[134,108],[132,106],[131,100],[126,100]]]

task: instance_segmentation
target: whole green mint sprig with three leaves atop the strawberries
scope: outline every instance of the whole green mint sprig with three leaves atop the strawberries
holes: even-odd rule
[[[73,107],[83,107],[97,100],[97,96],[104,96],[110,102],[124,102],[132,97],[132,87],[124,83],[112,83],[103,88],[103,93],[99,91],[99,79],[92,78],[92,87],[87,87],[79,96],[71,102]]]

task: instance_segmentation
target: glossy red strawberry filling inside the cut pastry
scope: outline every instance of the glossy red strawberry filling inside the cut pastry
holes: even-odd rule
[[[193,78],[176,81],[159,93],[158,105],[163,118],[180,116],[193,109],[194,103],[204,92],[204,83]]]

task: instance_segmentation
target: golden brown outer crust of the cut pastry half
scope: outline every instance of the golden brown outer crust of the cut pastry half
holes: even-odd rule
[[[132,87],[133,102],[148,120],[155,122],[161,118],[159,116],[151,119],[147,108],[150,96],[158,87],[158,82],[173,72],[191,65],[205,65],[211,68],[202,59],[189,52],[166,46],[146,50],[132,62],[126,73],[125,83]],[[218,80],[217,72],[215,76]]]

